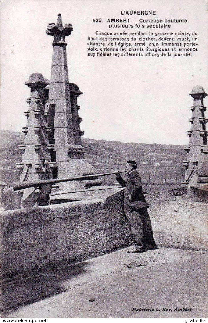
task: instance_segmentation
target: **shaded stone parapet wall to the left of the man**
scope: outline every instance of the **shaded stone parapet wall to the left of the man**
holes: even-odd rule
[[[103,255],[130,241],[122,191],[95,199],[1,213],[1,277],[13,279]]]

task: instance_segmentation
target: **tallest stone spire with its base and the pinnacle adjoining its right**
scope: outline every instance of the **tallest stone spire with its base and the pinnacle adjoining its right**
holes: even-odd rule
[[[65,36],[69,36],[72,30],[71,24],[62,25],[61,14],[58,14],[57,25],[50,23],[46,30],[47,35],[54,36],[48,126],[52,129],[49,135],[51,160],[57,162],[58,178],[97,173],[97,170],[84,159],[85,148],[81,143],[84,132],[79,128],[81,118],[78,116],[77,96],[82,92],[76,84],[69,84],[68,81]],[[66,182],[60,183],[59,188],[77,190],[100,184],[100,180]]]

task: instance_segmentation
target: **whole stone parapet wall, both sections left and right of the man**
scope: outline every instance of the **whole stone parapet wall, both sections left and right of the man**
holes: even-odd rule
[[[207,250],[208,192],[179,188],[146,195],[156,245]],[[106,198],[1,213],[1,277],[34,274],[125,247],[123,190]]]

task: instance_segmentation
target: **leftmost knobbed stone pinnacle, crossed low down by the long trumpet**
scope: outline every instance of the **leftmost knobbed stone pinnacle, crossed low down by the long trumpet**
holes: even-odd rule
[[[51,129],[46,122],[43,94],[43,89],[49,85],[49,81],[42,74],[34,73],[25,84],[31,91],[30,97],[26,99],[29,104],[25,112],[27,124],[22,129],[25,133],[24,144],[19,145],[23,152],[22,162],[16,164],[16,167],[22,170],[20,182],[52,179],[55,164],[50,159],[48,133]],[[50,191],[50,185],[20,191],[23,194],[22,207],[47,205]]]

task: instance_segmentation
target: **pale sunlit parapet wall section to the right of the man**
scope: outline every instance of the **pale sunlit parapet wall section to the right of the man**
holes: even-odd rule
[[[158,246],[208,250],[208,192],[182,187],[146,196]]]

